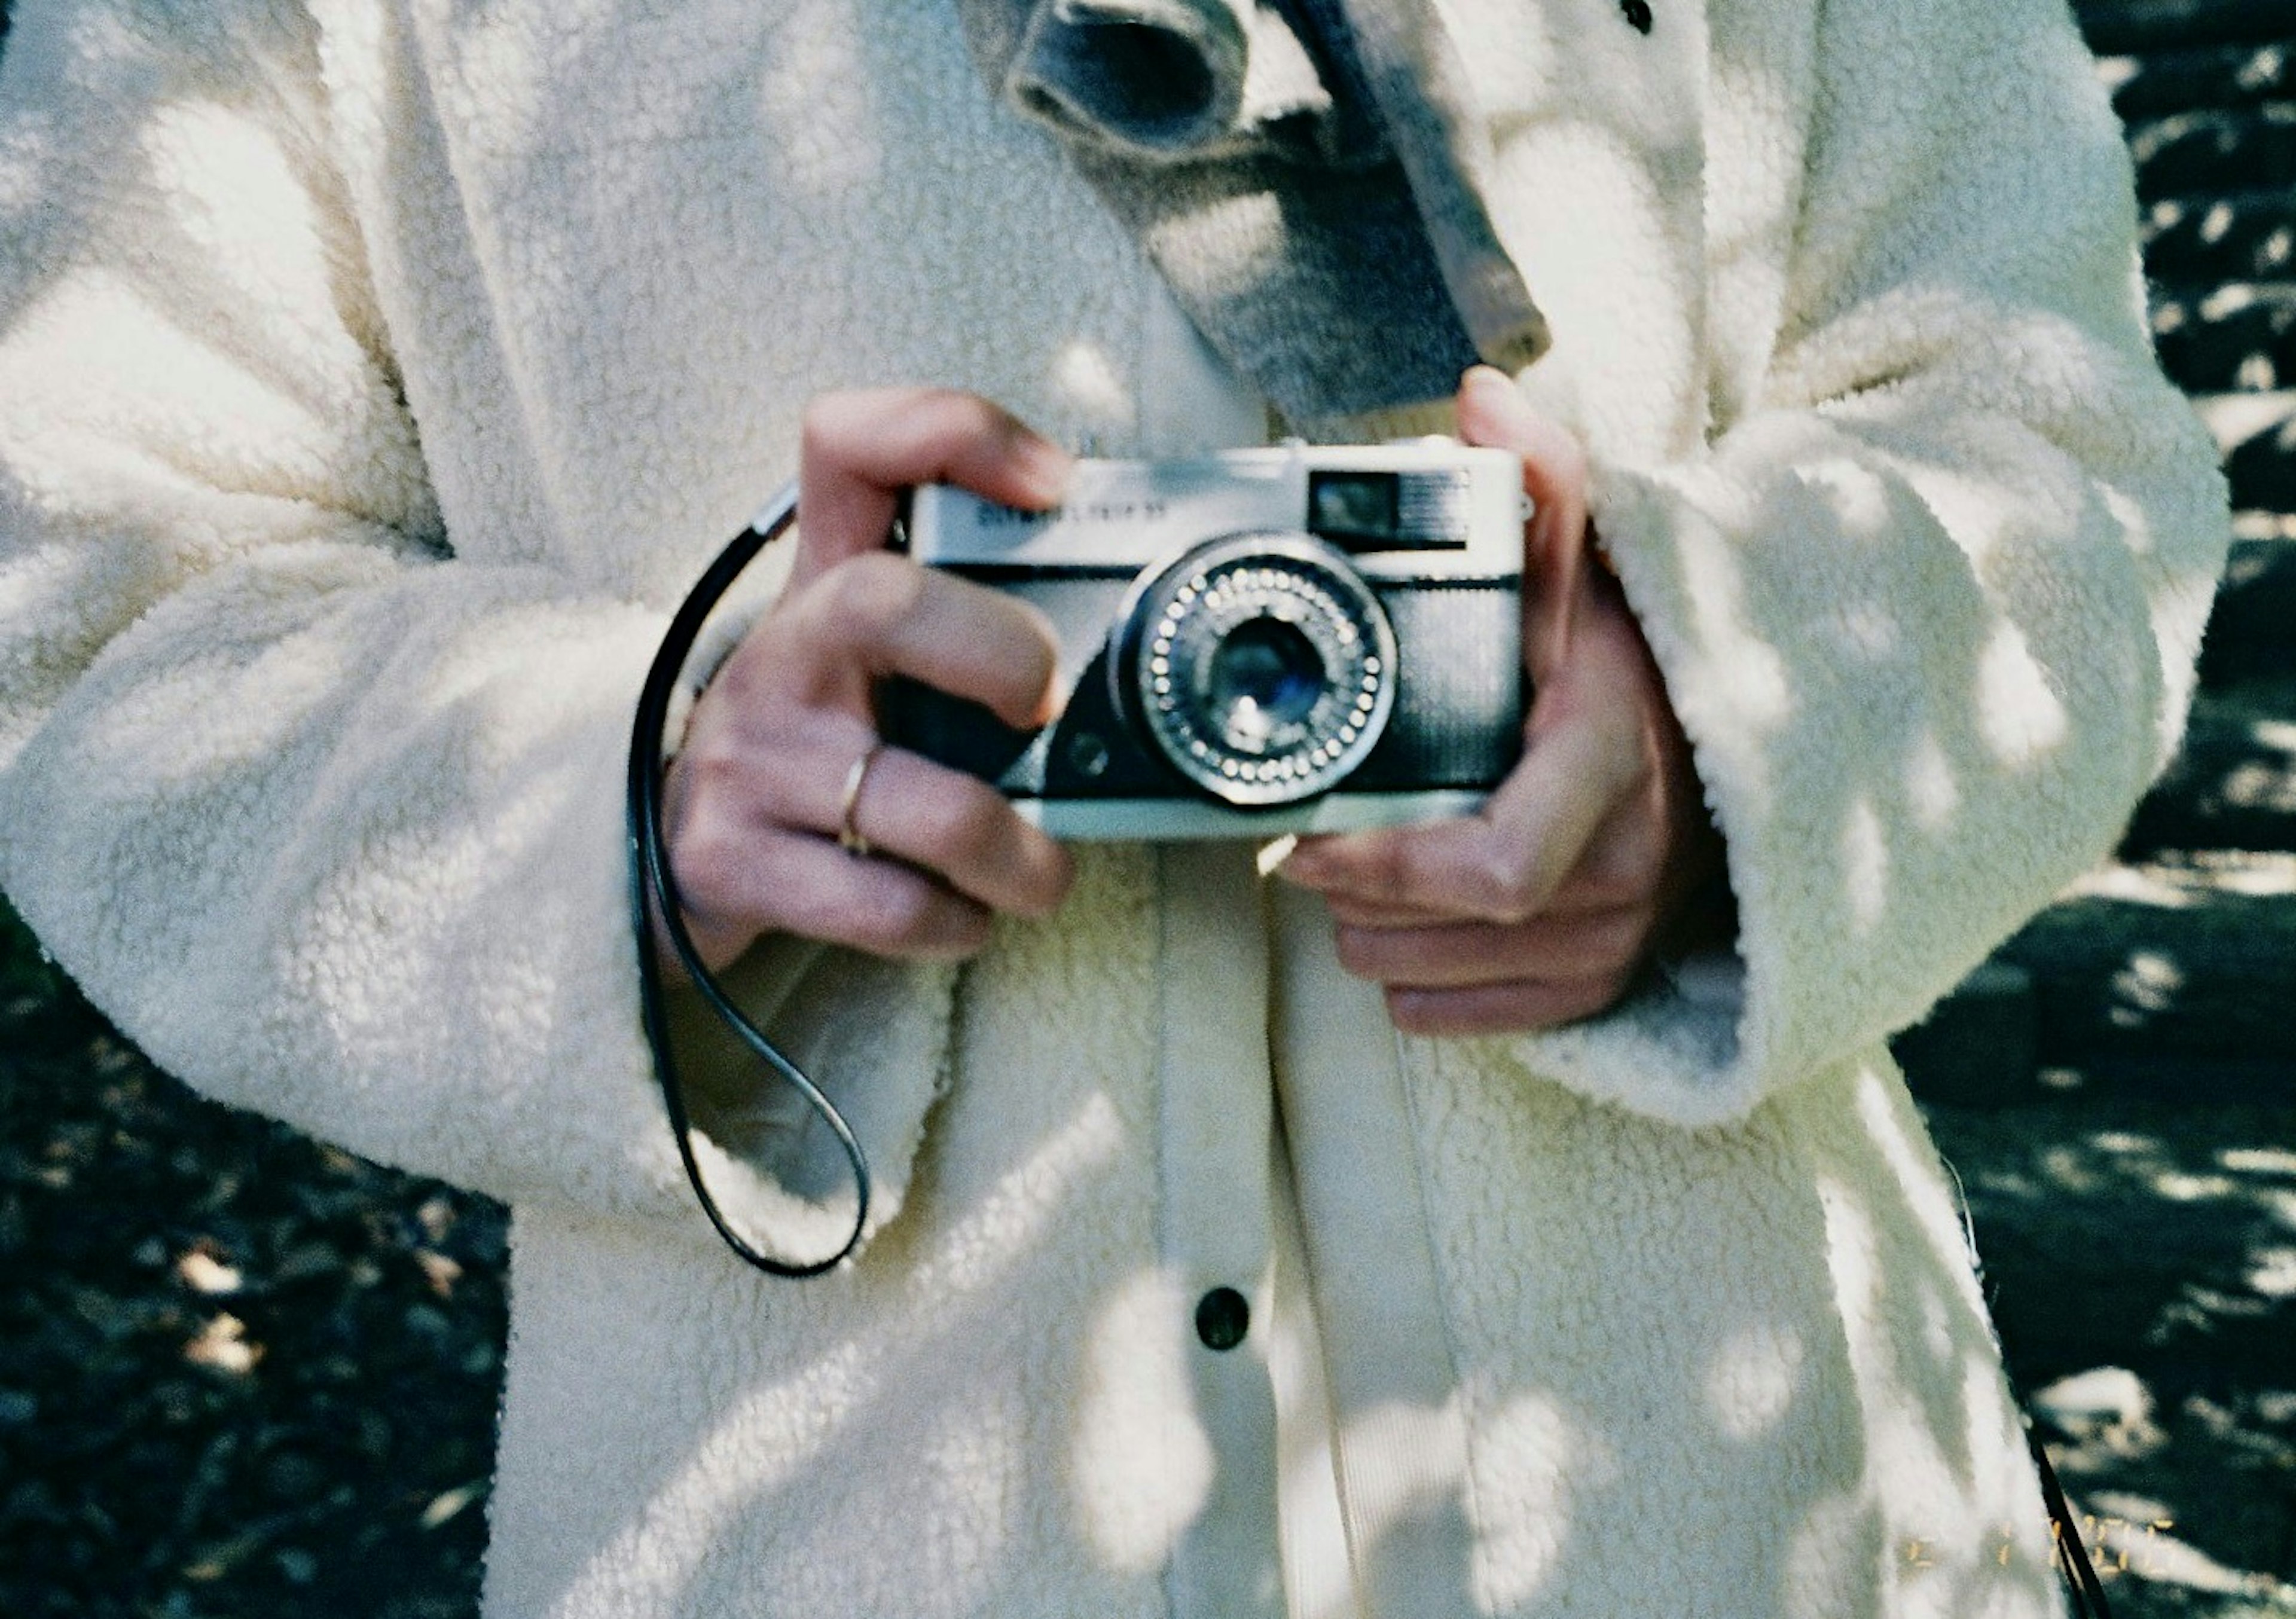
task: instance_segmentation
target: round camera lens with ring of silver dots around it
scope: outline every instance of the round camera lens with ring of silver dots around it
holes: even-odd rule
[[[1394,710],[1396,634],[1348,558],[1228,535],[1134,590],[1111,675],[1171,765],[1238,806],[1297,804],[1364,762]]]

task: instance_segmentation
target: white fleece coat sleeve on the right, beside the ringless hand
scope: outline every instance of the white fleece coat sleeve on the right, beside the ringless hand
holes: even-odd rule
[[[1729,845],[1743,994],[1658,983],[1527,1056],[1683,1125],[1869,1052],[2112,850],[2227,547],[2062,2],[1821,14],[1756,397],[1591,491]]]

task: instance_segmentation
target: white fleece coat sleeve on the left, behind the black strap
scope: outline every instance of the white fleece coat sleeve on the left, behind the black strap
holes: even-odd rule
[[[32,5],[0,108],[0,884],[209,1095],[709,1240],[625,889],[668,611],[441,521],[308,16]],[[847,967],[884,1015],[813,1045],[900,1075],[856,1121],[889,1213],[946,994]],[[801,1123],[735,1114],[760,1167],[804,1157]],[[831,1183],[739,1171],[760,1219],[836,1229]]]

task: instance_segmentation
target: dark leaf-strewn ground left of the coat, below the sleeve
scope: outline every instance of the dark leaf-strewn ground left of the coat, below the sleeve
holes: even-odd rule
[[[478,1610],[503,1215],[188,1095],[0,962],[0,1612]]]

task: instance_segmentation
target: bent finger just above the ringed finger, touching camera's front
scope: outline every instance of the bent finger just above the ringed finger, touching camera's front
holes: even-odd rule
[[[801,703],[870,712],[877,680],[907,675],[983,703],[1008,726],[1052,719],[1052,625],[1026,602],[955,574],[870,553],[822,574],[776,613],[760,677]]]

